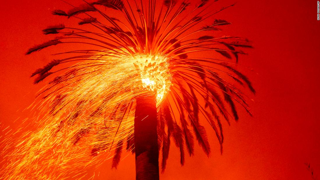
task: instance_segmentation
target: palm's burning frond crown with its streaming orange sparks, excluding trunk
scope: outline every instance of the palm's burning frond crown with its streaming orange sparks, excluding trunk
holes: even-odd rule
[[[62,57],[32,74],[35,83],[51,80],[30,106],[38,114],[26,121],[33,122],[35,130],[25,129],[22,141],[6,154],[10,162],[1,171],[4,178],[81,179],[87,168],[97,168],[119,152],[134,153],[135,99],[149,94],[156,94],[162,170],[170,139],[180,151],[181,165],[186,155],[195,153],[195,141],[209,157],[205,124],[214,131],[222,153],[221,121],[238,120],[236,106],[251,115],[244,90],[255,90],[236,65],[244,54],[241,49],[252,47],[250,42],[215,33],[231,23],[212,17],[233,4],[212,11],[215,2],[165,1],[160,10],[158,1],[146,0],[141,7],[96,1],[68,12],[55,9],[55,15],[79,18],[81,27],[49,26],[43,33],[59,36],[26,54],[58,44],[77,46],[53,54]],[[108,17],[101,6],[119,17]],[[88,15],[93,11],[102,21]]]

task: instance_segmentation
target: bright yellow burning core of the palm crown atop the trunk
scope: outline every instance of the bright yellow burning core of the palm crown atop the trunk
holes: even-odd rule
[[[169,58],[162,55],[139,54],[133,59],[133,65],[141,76],[142,87],[156,91],[157,102],[160,102],[171,86]]]

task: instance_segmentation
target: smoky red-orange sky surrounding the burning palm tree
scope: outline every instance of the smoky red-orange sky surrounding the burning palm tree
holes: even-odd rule
[[[210,130],[210,158],[197,148],[181,168],[178,151],[172,146],[161,179],[311,179],[306,162],[320,178],[320,21],[316,20],[316,4],[315,0],[239,0],[218,15],[233,23],[225,28],[226,34],[246,37],[255,47],[249,56],[240,58],[240,64],[253,69],[246,74],[257,91],[251,103],[254,117],[241,113],[239,122],[224,125],[223,155]],[[0,121],[2,127],[14,129],[19,124],[12,121],[26,116],[22,110],[44,85],[33,85],[29,76],[49,61],[46,55],[50,54],[49,50],[24,53],[47,40],[43,28],[65,21],[51,11],[69,6],[59,0],[34,0],[6,1],[0,8]],[[96,176],[99,171],[95,179],[132,179],[134,156],[122,160],[117,170],[107,160],[95,170]]]

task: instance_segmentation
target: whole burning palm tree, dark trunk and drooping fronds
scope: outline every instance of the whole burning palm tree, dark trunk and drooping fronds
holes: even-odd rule
[[[255,90],[234,66],[245,54],[239,49],[251,45],[220,35],[220,27],[230,23],[212,20],[233,5],[212,11],[212,4],[216,0],[98,0],[54,10],[79,26],[44,29],[59,36],[26,53],[76,45],[32,74],[38,75],[35,83],[56,74],[40,93],[48,130],[39,137],[50,132],[54,145],[68,141],[91,148],[92,156],[114,150],[115,168],[126,148],[135,153],[136,179],[159,179],[159,152],[164,171],[171,140],[181,165],[185,149],[194,154],[194,138],[209,156],[203,123],[215,131],[222,153],[221,121],[239,119],[236,104],[251,115],[240,86]]]

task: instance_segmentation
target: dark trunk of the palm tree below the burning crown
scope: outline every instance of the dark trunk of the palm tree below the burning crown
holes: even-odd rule
[[[159,179],[156,96],[136,98],[134,149],[136,180]]]

